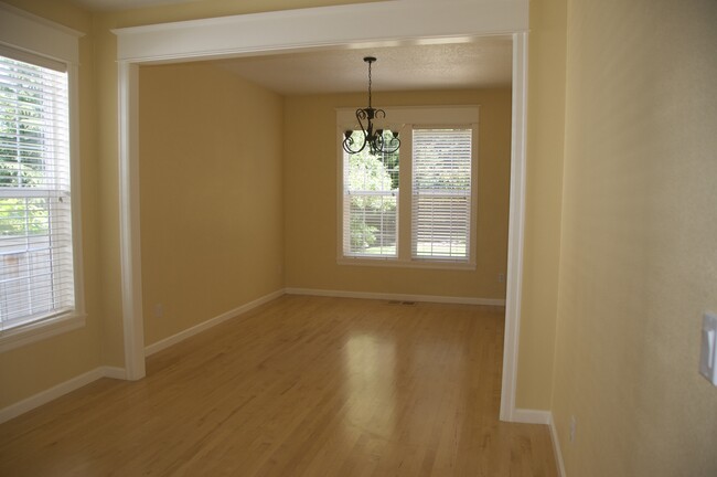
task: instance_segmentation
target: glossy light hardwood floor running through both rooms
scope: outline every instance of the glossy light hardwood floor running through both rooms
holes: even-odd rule
[[[557,476],[503,314],[285,296],[0,425],[1,476]]]

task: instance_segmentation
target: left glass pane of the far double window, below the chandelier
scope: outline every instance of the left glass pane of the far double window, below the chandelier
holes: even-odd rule
[[[344,256],[397,256],[398,157],[344,152]]]

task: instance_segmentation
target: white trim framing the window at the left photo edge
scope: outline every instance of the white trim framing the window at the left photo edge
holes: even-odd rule
[[[75,309],[0,331],[0,352],[65,333],[85,326],[79,193],[78,39],[84,34],[0,2],[0,45],[64,63],[69,96],[69,167],[72,184],[73,266]]]

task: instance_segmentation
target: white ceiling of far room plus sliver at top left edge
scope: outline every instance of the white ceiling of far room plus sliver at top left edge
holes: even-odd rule
[[[95,11],[128,10],[196,0],[74,0]],[[355,26],[354,26],[355,28]],[[511,36],[450,43],[379,47],[321,49],[290,54],[244,56],[215,63],[254,83],[286,95],[365,92],[364,56],[376,56],[373,91],[468,89],[509,86]]]

